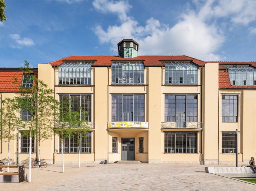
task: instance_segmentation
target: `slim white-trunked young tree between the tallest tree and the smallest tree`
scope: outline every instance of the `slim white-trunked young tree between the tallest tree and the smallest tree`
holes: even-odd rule
[[[64,139],[69,138],[72,133],[70,124],[70,101],[69,99],[65,101],[55,102],[55,128],[54,133],[61,139],[61,153],[62,153],[62,172],[64,172]]]

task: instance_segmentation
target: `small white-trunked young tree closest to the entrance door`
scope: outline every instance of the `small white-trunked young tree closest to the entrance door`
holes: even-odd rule
[[[81,116],[80,116],[81,114]],[[72,134],[76,137],[78,144],[78,167],[80,168],[80,143],[83,138],[88,136],[89,127],[86,120],[87,112],[84,112],[81,107],[78,108],[78,111],[71,112],[71,124],[70,128]]]

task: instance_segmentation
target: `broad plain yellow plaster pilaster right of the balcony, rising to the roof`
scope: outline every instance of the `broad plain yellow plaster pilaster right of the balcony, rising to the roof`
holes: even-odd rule
[[[206,63],[203,72],[203,158],[205,164],[218,162],[219,64]]]

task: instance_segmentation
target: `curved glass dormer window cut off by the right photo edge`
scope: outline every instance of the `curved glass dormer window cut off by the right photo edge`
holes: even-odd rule
[[[225,67],[228,68],[229,79],[232,86],[256,85],[256,68],[248,65],[225,65]]]

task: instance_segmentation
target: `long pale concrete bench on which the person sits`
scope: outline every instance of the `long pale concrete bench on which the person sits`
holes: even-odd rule
[[[205,166],[205,171],[211,174],[218,174],[228,177],[256,177],[250,167],[208,167]]]

